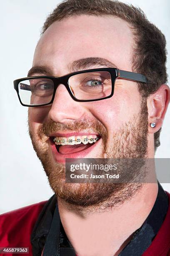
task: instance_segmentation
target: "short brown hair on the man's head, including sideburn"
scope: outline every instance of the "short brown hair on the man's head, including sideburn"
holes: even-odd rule
[[[116,16],[130,24],[134,36],[132,70],[144,74],[148,82],[138,83],[139,92],[149,97],[167,82],[166,40],[140,8],[115,0],[65,0],[50,13],[42,27],[43,34],[56,20],[74,15]],[[154,134],[155,151],[160,146],[160,131]]]

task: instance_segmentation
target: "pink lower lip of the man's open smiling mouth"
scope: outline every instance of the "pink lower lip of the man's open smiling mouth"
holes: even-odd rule
[[[88,135],[89,135],[89,133],[88,133]],[[69,133],[69,136],[70,136],[70,133]],[[95,148],[96,144],[98,143],[98,141],[96,141],[94,144],[92,144],[92,146],[90,146],[89,148],[87,148],[83,151],[80,151],[80,152],[75,152],[75,153],[71,153],[71,154],[60,154],[57,151],[57,149],[55,147],[55,144],[52,142],[52,140],[49,139],[49,141],[50,141],[50,146],[51,146],[53,158],[59,164],[65,164],[65,159],[66,158],[84,158],[87,154],[90,153],[90,151],[92,151]]]

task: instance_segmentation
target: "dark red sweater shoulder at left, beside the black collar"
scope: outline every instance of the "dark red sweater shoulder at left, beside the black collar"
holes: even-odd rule
[[[47,201],[0,215],[0,247],[30,245],[30,234]]]

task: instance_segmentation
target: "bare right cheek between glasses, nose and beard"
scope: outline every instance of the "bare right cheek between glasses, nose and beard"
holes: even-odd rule
[[[140,111],[138,89],[133,86],[130,89],[115,87],[114,95],[111,98],[90,102],[88,109],[95,118],[105,125],[109,133],[115,129],[120,129],[123,124],[133,118],[133,115],[138,115]]]

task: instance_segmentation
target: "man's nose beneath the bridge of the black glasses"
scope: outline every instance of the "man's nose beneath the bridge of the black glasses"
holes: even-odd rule
[[[85,113],[83,102],[72,99],[63,84],[57,87],[52,107],[48,113],[49,118],[56,123],[68,123],[81,118]]]

